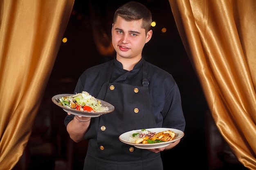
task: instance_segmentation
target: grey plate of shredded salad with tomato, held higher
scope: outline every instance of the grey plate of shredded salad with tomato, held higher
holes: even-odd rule
[[[52,102],[67,113],[83,117],[99,117],[115,110],[112,104],[97,99],[85,91],[76,94],[55,95],[52,97]]]

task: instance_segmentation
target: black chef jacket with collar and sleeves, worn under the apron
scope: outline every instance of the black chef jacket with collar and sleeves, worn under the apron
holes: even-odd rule
[[[142,58],[131,71],[126,71],[120,62],[114,59],[110,82],[142,86]],[[146,62],[146,61],[144,61]],[[156,127],[175,128],[184,132],[185,119],[179,88],[172,75],[161,68],[148,64],[148,88]],[[105,83],[110,62],[93,66],[84,71],[79,77],[74,93],[87,91],[97,97],[102,85]],[[73,119],[74,115],[67,115],[65,125]]]

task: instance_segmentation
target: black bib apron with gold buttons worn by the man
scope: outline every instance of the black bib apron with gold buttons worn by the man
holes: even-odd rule
[[[112,113],[91,121],[95,138],[89,139],[84,170],[162,170],[160,153],[135,148],[119,141],[119,135],[156,126],[148,90],[147,66],[142,65],[143,86],[110,83],[113,63],[98,99],[115,106]]]

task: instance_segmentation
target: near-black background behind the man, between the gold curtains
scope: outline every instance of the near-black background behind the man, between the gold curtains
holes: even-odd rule
[[[113,14],[124,2],[127,0],[92,0],[92,2],[75,0],[70,21],[63,36],[63,38],[67,38],[67,42],[61,44],[56,57],[32,134],[32,137],[36,136],[38,129],[42,129],[42,124],[49,126],[43,139],[54,146],[55,155],[49,160],[54,159],[55,164],[56,160],[67,162],[67,159],[71,159],[69,163],[72,163],[72,169],[81,170],[87,142],[83,141],[78,144],[70,142],[63,124],[66,113],[55,106],[51,98],[57,94],[73,93],[76,81],[85,69],[114,57],[114,55],[102,56],[97,51],[92,35],[92,25],[99,24],[102,31],[106,32],[111,40]],[[168,0],[138,0],[138,2],[145,4],[150,9],[153,21],[157,23],[152,28],[153,37],[144,47],[143,56],[148,62],[173,75],[180,88],[186,119],[185,135],[180,144],[171,150],[162,152],[165,170],[186,167],[207,170],[205,115],[208,106],[198,77],[186,55],[177,31],[170,4]],[[90,10],[97,14],[96,18],[98,19],[92,19]],[[163,27],[167,29],[166,33],[161,32]],[[31,140],[33,141],[33,138]],[[68,158],[70,156],[72,158]],[[45,157],[43,159],[46,160]],[[36,163],[39,164],[38,157],[31,157],[31,162],[34,164],[33,166],[36,166]],[[61,164],[61,161],[58,163]],[[46,163],[43,165],[45,166]],[[30,166],[32,167],[32,165]],[[37,169],[40,168],[37,167]]]

